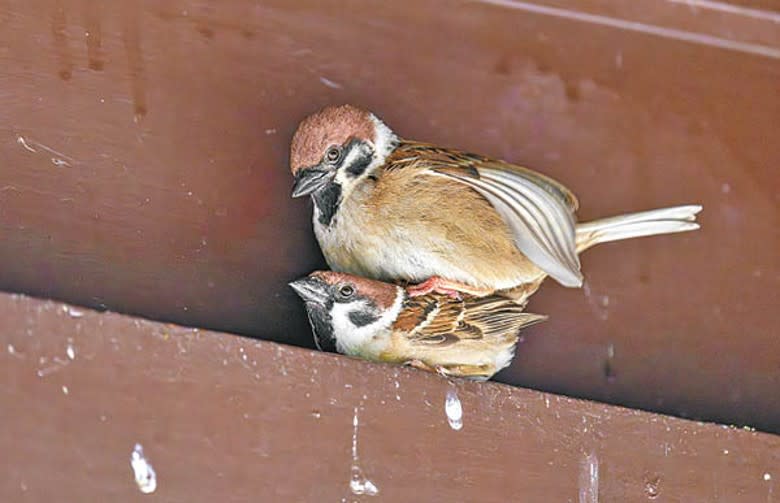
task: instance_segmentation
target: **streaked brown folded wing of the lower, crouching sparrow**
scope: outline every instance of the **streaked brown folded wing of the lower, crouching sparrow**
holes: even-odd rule
[[[408,298],[393,328],[412,344],[443,347],[465,340],[510,342],[520,329],[545,319],[498,295],[458,300],[430,294]]]

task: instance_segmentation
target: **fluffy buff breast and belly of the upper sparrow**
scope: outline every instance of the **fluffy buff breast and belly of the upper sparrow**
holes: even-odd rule
[[[343,200],[331,225],[314,216],[330,267],[373,279],[442,276],[504,289],[538,276],[511,231],[471,188],[417,170],[384,171]]]

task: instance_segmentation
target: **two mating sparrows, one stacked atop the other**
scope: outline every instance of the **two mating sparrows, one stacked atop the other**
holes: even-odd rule
[[[559,182],[404,140],[351,105],[304,119],[290,165],[332,269],[290,283],[317,346],[448,376],[509,365],[519,330],[545,319],[524,311],[528,297],[547,276],[582,286],[583,250],[699,227],[698,205],[577,223]]]

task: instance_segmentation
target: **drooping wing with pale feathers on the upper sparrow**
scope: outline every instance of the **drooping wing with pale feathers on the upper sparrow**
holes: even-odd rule
[[[388,169],[404,166],[471,187],[512,230],[517,248],[565,286],[581,286],[574,211],[566,187],[541,173],[477,154],[405,142]]]

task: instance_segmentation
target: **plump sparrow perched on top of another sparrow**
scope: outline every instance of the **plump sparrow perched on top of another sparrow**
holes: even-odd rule
[[[293,135],[293,197],[311,196],[331,269],[432,291],[527,296],[547,275],[580,287],[579,253],[608,241],[698,229],[699,205],[577,223],[561,183],[479,154],[397,136],[351,105]]]

